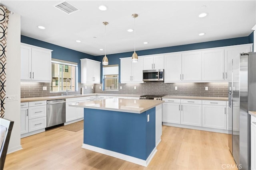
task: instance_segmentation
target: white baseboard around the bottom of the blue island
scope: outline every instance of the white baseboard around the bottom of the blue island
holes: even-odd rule
[[[95,151],[95,152],[99,152],[99,153],[102,153],[102,154],[106,154],[108,156],[113,156],[115,158],[126,160],[126,161],[132,162],[134,164],[139,164],[139,165],[142,165],[142,166],[148,166],[148,164],[150,163],[150,161],[152,160],[152,158],[154,157],[154,155],[157,152],[156,147],[155,147],[152,150],[152,152],[150,153],[150,155],[148,156],[147,160],[143,160],[143,159],[135,158],[133,156],[129,156],[129,155],[126,155],[126,154],[114,152],[114,151],[111,151],[111,150],[102,149],[102,148],[99,148],[99,147],[94,147],[92,145],[87,145],[87,144],[84,144],[84,143],[82,145],[82,148],[92,150],[92,151]]]

